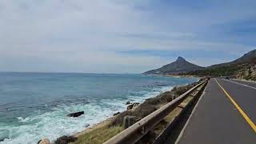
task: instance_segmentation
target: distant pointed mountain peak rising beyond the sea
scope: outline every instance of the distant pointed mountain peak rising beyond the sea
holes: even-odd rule
[[[187,62],[186,59],[178,57],[175,62],[171,62],[156,70],[146,71],[143,74],[180,74],[200,69],[202,69],[202,66],[194,65],[193,63]]]

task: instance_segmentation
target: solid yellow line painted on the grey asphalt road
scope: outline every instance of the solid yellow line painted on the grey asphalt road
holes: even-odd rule
[[[233,105],[238,109],[238,111],[240,112],[240,114],[242,114],[242,117],[246,119],[246,122],[248,122],[248,124],[250,125],[250,127],[254,130],[254,132],[256,133],[256,126],[254,124],[254,122],[252,122],[250,120],[250,118],[247,116],[247,114],[242,110],[242,108],[240,106],[238,106],[237,102],[234,101],[233,98],[231,98],[230,94],[228,94],[226,92],[226,90],[218,83],[218,81],[216,80],[216,78],[214,78],[214,80],[217,82],[218,86],[220,86],[220,88],[224,91],[224,93],[226,94],[226,96],[228,98],[230,98],[230,101],[233,103]]]

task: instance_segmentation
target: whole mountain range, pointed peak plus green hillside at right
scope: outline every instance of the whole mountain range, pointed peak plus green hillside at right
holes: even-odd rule
[[[178,57],[175,62],[171,62],[156,70],[146,71],[143,74],[229,76],[231,78],[243,78],[256,81],[256,50],[252,50],[232,62],[208,67],[197,66],[187,62],[182,57]]]

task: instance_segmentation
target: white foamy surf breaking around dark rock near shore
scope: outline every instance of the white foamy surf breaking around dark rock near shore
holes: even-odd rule
[[[22,126],[6,126],[0,128],[0,132],[7,134],[1,144],[13,143],[36,143],[41,138],[49,138],[53,142],[56,138],[65,134],[75,134],[85,130],[86,126],[93,126],[98,122],[102,122],[106,118],[110,118],[115,112],[126,110],[125,103],[143,102],[146,98],[152,98],[166,90],[170,90],[172,86],[163,86],[162,88],[153,89],[151,91],[140,91],[140,97],[128,95],[126,98],[102,99],[100,102],[89,102],[78,105],[60,105],[40,115],[34,115],[27,118],[18,117],[19,122],[26,122]],[[84,110],[85,114],[78,118],[66,117],[66,114],[74,111]],[[8,130],[7,132],[3,130]]]

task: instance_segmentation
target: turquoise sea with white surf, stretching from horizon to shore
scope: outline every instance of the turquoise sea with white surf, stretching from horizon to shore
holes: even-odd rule
[[[0,73],[0,140],[2,143],[51,141],[94,125],[125,103],[143,102],[194,78],[141,74]],[[78,118],[66,117],[85,111]]]

